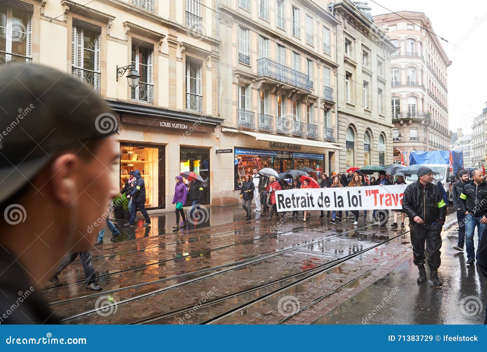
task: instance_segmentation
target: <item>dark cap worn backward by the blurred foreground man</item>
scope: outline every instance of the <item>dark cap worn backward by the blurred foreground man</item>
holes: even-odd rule
[[[81,150],[117,128],[105,100],[69,73],[7,63],[0,65],[0,78],[0,202],[57,153]]]

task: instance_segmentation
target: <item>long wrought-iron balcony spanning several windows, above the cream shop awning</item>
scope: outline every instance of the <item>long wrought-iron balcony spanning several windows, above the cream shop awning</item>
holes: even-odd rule
[[[257,75],[267,76],[292,86],[310,90],[309,76],[270,59],[257,59]]]

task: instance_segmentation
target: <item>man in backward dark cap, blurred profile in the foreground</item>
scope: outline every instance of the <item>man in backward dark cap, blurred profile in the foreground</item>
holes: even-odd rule
[[[118,193],[117,120],[69,73],[7,63],[0,78],[1,323],[58,323],[38,290],[105,225],[97,219]]]

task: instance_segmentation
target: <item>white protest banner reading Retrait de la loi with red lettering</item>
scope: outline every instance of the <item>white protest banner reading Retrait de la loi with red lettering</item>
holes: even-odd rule
[[[278,212],[402,209],[407,185],[307,188],[276,191]]]

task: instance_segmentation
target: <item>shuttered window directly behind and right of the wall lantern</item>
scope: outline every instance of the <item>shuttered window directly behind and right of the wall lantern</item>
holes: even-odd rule
[[[132,88],[131,99],[152,104],[152,49],[153,45],[132,38],[131,63],[139,72],[139,85]]]

